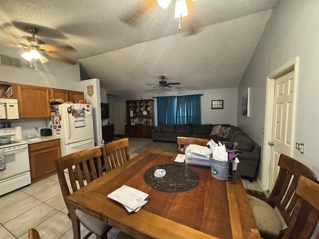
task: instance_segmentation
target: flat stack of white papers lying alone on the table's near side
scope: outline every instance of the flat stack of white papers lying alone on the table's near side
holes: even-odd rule
[[[108,195],[108,198],[121,203],[129,213],[139,211],[149,200],[149,194],[123,185]]]

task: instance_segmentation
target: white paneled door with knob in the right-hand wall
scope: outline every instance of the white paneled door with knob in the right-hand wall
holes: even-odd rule
[[[279,156],[286,154],[290,156],[292,147],[292,119],[294,104],[294,85],[295,72],[291,71],[276,78],[275,81],[275,98],[274,98],[274,117],[271,158],[270,158],[270,192],[274,188],[279,173]]]

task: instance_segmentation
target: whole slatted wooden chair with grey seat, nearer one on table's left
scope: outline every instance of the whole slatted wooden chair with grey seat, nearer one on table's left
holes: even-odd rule
[[[65,200],[72,193],[69,185],[75,192],[103,175],[104,162],[101,156],[101,146],[95,146],[54,160],[64,202],[71,218],[74,239],[81,237],[80,223],[89,230],[84,238],[95,234],[97,239],[107,239],[107,232],[112,229],[111,226],[89,215],[89,212],[75,209]],[[64,172],[66,169],[68,173]]]

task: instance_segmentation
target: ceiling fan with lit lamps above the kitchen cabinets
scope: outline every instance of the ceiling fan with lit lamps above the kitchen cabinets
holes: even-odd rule
[[[49,61],[44,56],[44,54],[46,54],[52,58],[68,63],[70,65],[76,64],[75,61],[62,57],[58,55],[57,53],[55,53],[56,51],[74,51],[75,49],[72,46],[46,44],[44,41],[41,41],[40,39],[34,37],[34,35],[38,32],[38,28],[34,26],[28,26],[26,27],[26,29],[32,34],[32,36],[21,36],[18,39],[19,44],[8,44],[9,46],[25,48],[26,52],[24,52],[21,55],[24,59],[30,62],[32,59],[34,60],[39,59],[41,63],[45,63]],[[36,64],[36,61],[35,61],[35,64]],[[32,62],[31,62],[31,67],[32,67]],[[36,66],[35,66],[35,70],[36,70]]]

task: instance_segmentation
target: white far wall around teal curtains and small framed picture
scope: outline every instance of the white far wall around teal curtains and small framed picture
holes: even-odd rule
[[[213,90],[200,90],[200,91],[180,91],[180,92],[163,92],[155,94],[143,94],[136,95],[136,99],[126,100],[137,100],[137,99],[152,99],[157,96],[182,96],[182,95],[196,95],[203,94],[201,96],[201,123],[229,123],[231,125],[237,125],[237,88],[226,88],[226,89],[213,89]],[[212,110],[212,100],[224,100],[223,110]],[[119,100],[120,101],[120,100]]]

